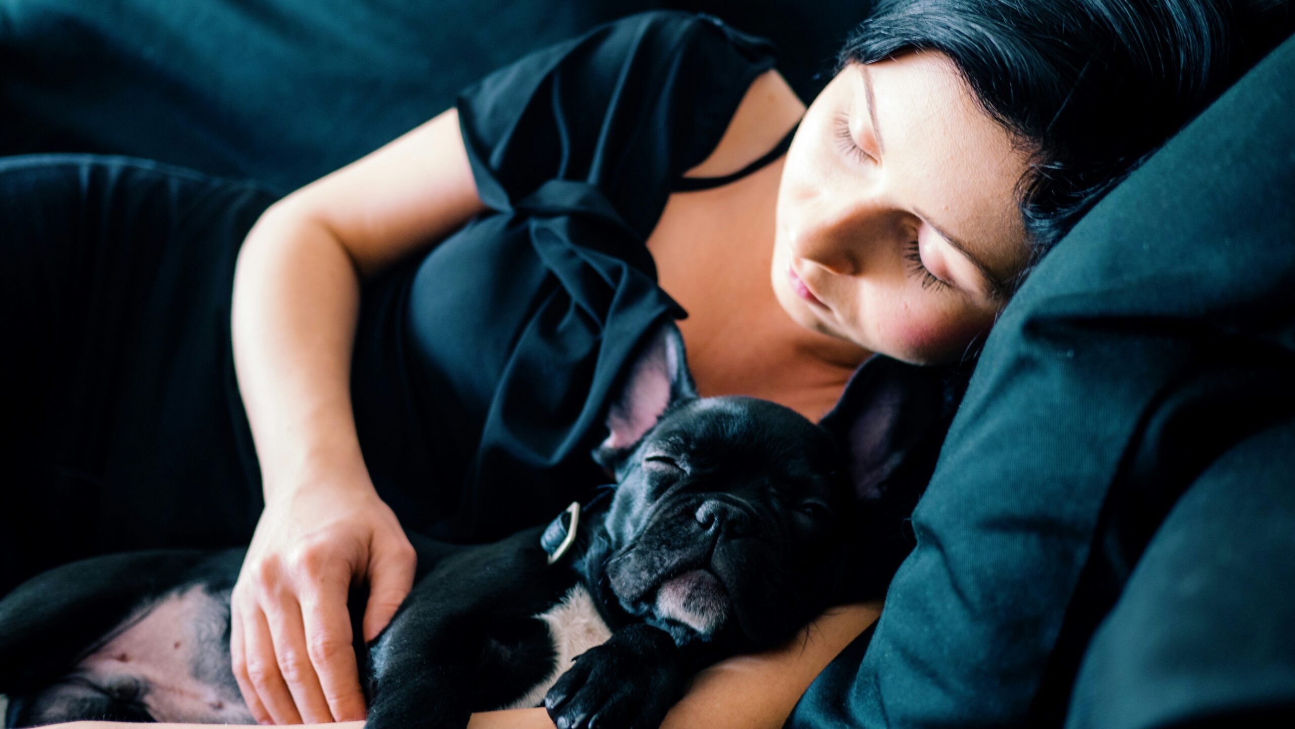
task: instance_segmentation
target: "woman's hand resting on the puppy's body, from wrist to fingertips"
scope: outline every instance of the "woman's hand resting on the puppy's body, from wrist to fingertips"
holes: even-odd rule
[[[414,566],[368,480],[268,497],[229,598],[229,653],[251,715],[262,724],[364,719],[347,593],[354,581],[369,584],[369,642],[413,587]]]

